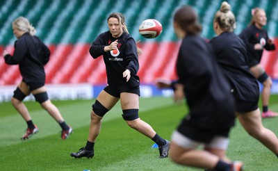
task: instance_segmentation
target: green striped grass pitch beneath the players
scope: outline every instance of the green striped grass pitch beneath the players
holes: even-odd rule
[[[270,99],[274,111],[278,111],[277,97],[272,95]],[[104,117],[95,156],[72,158],[70,153],[77,152],[87,140],[93,101],[52,102],[74,128],[67,140],[60,139],[58,124],[33,101],[26,102],[26,106],[40,131],[30,140],[20,140],[26,123],[10,103],[0,103],[0,170],[198,170],[175,165],[169,158],[158,158],[158,149],[151,148],[154,142],[122,120],[119,103]],[[186,106],[174,104],[170,98],[140,99],[140,118],[163,138],[170,139],[186,111]],[[263,119],[263,124],[278,134],[277,121],[278,118]],[[245,170],[277,170],[278,158],[248,136],[238,122],[230,138],[227,156],[243,161]]]

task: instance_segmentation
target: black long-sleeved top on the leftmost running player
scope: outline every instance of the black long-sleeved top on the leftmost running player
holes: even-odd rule
[[[44,65],[48,63],[50,51],[37,36],[24,33],[15,41],[13,56],[6,55],[8,65],[19,64],[19,70],[25,83],[45,82]]]

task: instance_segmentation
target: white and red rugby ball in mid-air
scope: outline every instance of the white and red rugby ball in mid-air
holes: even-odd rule
[[[162,25],[156,19],[145,19],[139,26],[139,33],[144,38],[156,38],[161,32]]]

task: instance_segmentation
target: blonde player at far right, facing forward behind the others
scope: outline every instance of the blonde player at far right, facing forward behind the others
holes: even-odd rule
[[[252,9],[252,21],[250,26],[244,29],[239,36],[242,38],[243,42],[245,42],[247,47],[250,71],[254,74],[256,79],[263,84],[263,90],[261,91],[263,113],[261,115],[262,117],[276,117],[278,113],[272,112],[268,109],[272,80],[260,64],[261,57],[263,56],[263,49],[268,51],[275,50],[275,44],[273,44],[273,41],[268,38],[267,31],[263,29],[266,22],[267,17],[263,9]]]

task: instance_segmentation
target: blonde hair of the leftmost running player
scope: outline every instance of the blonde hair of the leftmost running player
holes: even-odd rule
[[[35,28],[25,17],[17,17],[17,19],[13,21],[13,28],[19,29],[24,32],[28,32],[31,35],[35,35],[36,33]]]

